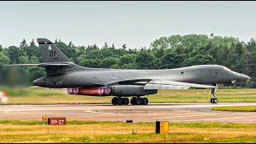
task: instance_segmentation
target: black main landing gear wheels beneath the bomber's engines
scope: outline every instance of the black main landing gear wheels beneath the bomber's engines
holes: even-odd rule
[[[134,97],[130,99],[131,105],[147,105],[149,100],[147,98]],[[129,98],[114,97],[112,99],[113,105],[128,105]]]

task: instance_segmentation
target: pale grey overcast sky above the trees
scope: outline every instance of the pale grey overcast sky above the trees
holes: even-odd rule
[[[0,45],[59,38],[130,48],[173,34],[255,38],[256,2],[0,2]]]

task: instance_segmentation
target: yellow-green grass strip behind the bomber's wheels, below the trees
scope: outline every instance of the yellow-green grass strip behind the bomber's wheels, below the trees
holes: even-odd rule
[[[93,97],[66,94],[66,89],[31,87],[7,87],[9,101],[6,104],[71,104],[71,103],[110,103],[111,96]],[[218,102],[256,102],[254,89],[217,90]],[[162,102],[209,102],[210,90],[158,90],[158,94],[148,96],[151,103]],[[5,104],[5,103],[1,103]]]

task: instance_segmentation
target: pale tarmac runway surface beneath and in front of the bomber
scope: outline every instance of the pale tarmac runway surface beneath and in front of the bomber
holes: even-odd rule
[[[256,106],[256,102],[162,103],[148,106],[112,105],[6,105],[0,106],[0,119],[41,120],[42,115],[68,120],[155,122],[256,122],[254,112],[224,112],[213,106]]]

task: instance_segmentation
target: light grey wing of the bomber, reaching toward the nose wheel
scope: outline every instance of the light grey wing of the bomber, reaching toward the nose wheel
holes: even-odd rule
[[[190,87],[196,88],[216,88],[216,86],[188,83],[188,82],[174,82],[166,80],[152,80],[144,86],[144,90],[187,90]]]

